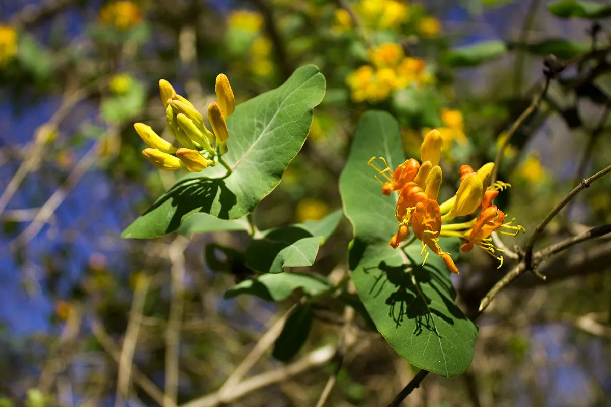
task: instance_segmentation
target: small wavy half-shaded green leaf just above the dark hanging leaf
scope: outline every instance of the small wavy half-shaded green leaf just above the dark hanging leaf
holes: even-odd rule
[[[316,273],[263,274],[231,287],[225,292],[225,298],[247,294],[256,295],[266,301],[282,301],[298,288],[302,289],[305,295],[316,297],[331,290],[333,285],[326,277]]]

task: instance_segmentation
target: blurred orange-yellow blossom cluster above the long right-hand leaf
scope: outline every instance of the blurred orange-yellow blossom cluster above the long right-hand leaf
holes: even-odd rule
[[[434,81],[424,60],[406,57],[403,47],[397,43],[372,48],[369,57],[371,65],[359,67],[346,79],[355,102],[379,103],[397,89]]]

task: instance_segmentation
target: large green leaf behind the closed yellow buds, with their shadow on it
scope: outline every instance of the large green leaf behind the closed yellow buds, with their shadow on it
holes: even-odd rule
[[[276,188],[304,144],[312,109],[323,98],[324,87],[323,74],[314,65],[306,65],[280,87],[237,106],[227,120],[230,137],[223,156],[233,173],[222,178],[218,165],[185,176],[122,237],[162,236],[196,212],[221,219],[238,219],[252,212]]]

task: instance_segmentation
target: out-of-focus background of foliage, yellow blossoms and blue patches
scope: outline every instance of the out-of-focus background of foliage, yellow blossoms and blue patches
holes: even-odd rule
[[[568,67],[511,138],[500,167],[513,185],[503,210],[532,231],[582,178],[609,165],[611,151],[611,10],[605,2],[549,3],[0,1],[0,405],[172,406],[204,395],[191,406],[315,405],[334,364],[309,356],[337,342],[344,304],[358,311],[359,301],[323,297],[301,319],[291,314],[307,326],[307,342],[287,370],[273,343],[255,344],[269,341],[265,333],[299,292],[277,303],[224,298],[250,272],[240,264],[214,272],[204,256],[214,242],[225,248],[221,261],[231,259],[227,250],[244,249],[244,232],[121,240],[176,179],[143,159],[134,121],[165,134],[162,77],[203,108],[218,73],[239,103],[300,65],[318,65],[327,93],[309,138],[253,215],[268,229],[341,207],[337,178],[357,120],[371,108],[397,117],[408,156],[418,155],[428,129],[439,129],[453,168],[444,184],[455,185],[467,160],[475,168],[494,160],[539,92],[543,57],[555,54]],[[610,223],[610,189],[611,179],[591,185],[545,239]],[[312,270],[339,284],[350,239],[343,221]],[[549,284],[529,275],[503,291],[478,321],[469,372],[428,378],[409,405],[609,405],[607,243],[555,259],[543,270],[556,273]],[[594,256],[590,248],[602,254],[580,263]],[[459,262],[453,282],[469,315],[502,270],[479,253]],[[366,317],[355,322],[357,339],[327,405],[387,405],[414,374],[368,326]],[[122,344],[134,348],[126,383]],[[236,370],[245,358],[250,383]],[[214,398],[227,378],[228,398]]]

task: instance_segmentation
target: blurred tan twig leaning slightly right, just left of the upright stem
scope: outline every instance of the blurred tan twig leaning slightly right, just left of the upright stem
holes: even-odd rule
[[[125,339],[123,339],[123,348],[119,361],[115,407],[124,406],[129,397],[134,351],[136,350],[136,344],[138,342],[142,310],[144,309],[149,284],[150,277],[144,274],[140,275],[136,282],[134,300],[131,303],[130,320],[125,331]]]

